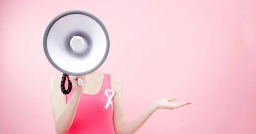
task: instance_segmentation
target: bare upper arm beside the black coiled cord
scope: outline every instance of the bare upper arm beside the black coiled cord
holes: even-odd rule
[[[54,75],[51,80],[50,86],[50,100],[52,106],[52,114],[54,122],[61,113],[62,109],[66,106],[66,96],[61,92],[61,74]]]

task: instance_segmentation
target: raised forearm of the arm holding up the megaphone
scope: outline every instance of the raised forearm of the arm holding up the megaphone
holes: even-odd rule
[[[65,134],[68,129],[71,127],[73,120],[76,115],[76,110],[79,104],[79,100],[81,98],[81,93],[73,92],[72,97],[68,101],[67,105],[61,111],[61,113],[57,116],[55,121],[55,130],[58,134]]]

